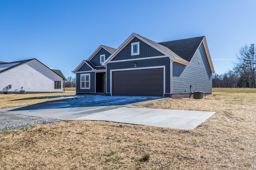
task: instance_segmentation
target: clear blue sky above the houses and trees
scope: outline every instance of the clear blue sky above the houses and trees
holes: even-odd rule
[[[132,33],[155,42],[206,36],[216,73],[256,43],[256,0],[0,0],[0,61],[36,58],[64,76]]]

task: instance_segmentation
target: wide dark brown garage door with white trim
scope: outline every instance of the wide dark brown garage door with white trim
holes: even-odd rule
[[[164,68],[112,72],[114,96],[164,96]]]

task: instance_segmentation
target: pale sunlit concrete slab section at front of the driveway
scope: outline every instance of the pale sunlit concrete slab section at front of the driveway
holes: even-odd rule
[[[170,127],[175,129],[194,129],[214,115],[214,113],[216,112],[149,109],[128,106],[73,118],[72,120],[112,121],[136,125]]]

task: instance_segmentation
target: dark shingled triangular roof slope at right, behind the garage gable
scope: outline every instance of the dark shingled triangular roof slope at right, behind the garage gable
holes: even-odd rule
[[[191,61],[204,37],[180,39],[159,43],[164,45],[186,61]]]

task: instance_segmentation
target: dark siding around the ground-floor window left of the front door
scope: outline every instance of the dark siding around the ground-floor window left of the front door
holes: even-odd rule
[[[81,74],[90,74],[90,89],[81,89]],[[76,73],[76,92],[77,93],[94,93],[95,92],[95,72]]]

